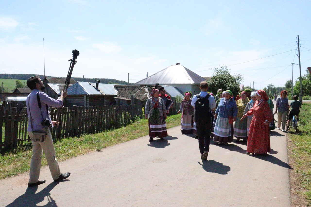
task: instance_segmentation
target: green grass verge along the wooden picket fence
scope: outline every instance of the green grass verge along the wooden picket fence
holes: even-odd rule
[[[169,116],[166,120],[167,128],[179,126],[180,119],[181,114]],[[138,119],[126,127],[57,141],[54,143],[56,157],[58,161],[63,161],[94,150],[102,150],[108,146],[134,140],[146,136],[148,133],[148,120]],[[0,155],[0,180],[29,171],[31,156],[31,143],[12,152],[7,152],[2,156]],[[47,162],[45,156],[43,156],[41,166],[46,165]]]

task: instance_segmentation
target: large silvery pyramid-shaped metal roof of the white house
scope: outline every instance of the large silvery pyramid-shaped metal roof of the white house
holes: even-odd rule
[[[204,78],[197,75],[182,65],[171,65],[147,78],[138,81],[136,84],[199,84],[205,81]]]

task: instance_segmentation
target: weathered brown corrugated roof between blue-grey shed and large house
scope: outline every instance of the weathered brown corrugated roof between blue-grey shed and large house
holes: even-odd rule
[[[131,99],[134,96],[135,99],[147,100],[150,95],[148,93],[148,88],[145,85],[142,86],[121,86],[115,85],[114,89],[118,91],[118,97],[125,97]]]

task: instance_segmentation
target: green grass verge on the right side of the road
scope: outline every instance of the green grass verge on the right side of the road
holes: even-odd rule
[[[295,185],[300,194],[311,206],[311,104],[303,104],[299,113],[298,130],[295,134],[291,128],[287,134],[289,157],[293,160]]]

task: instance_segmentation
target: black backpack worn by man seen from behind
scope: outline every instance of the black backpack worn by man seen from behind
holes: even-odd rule
[[[210,103],[208,98],[211,96],[207,94],[205,97],[200,97],[200,94],[197,94],[197,101],[195,102],[195,111],[194,111],[194,121],[197,124],[207,124],[211,123],[211,113]]]

